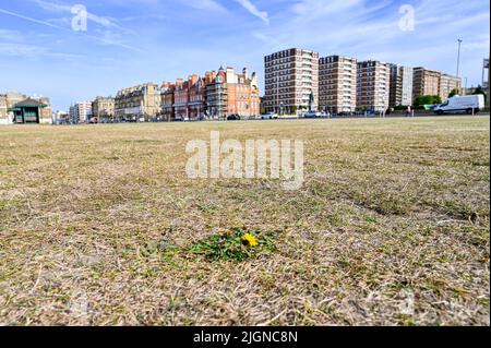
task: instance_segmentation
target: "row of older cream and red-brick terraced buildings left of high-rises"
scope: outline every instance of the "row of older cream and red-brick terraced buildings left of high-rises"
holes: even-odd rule
[[[256,73],[249,74],[246,68],[241,73],[233,68],[220,68],[188,80],[123,88],[116,98],[97,97],[89,119],[93,123],[225,120],[231,115],[258,117],[260,108]]]

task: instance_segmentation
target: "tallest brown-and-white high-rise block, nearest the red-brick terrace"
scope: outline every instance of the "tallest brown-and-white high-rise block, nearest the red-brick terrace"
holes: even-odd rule
[[[319,106],[319,53],[287,49],[264,58],[265,109],[301,115]]]

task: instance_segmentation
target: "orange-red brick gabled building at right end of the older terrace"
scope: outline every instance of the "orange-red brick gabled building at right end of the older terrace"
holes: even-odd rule
[[[261,97],[256,73],[249,76],[247,68],[236,73],[233,68],[220,68],[215,80],[207,85],[208,118],[224,120],[230,115],[252,118],[260,115]]]

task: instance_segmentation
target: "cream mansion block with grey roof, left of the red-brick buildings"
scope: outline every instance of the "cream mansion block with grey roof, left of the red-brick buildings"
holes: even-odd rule
[[[151,121],[160,112],[160,88],[145,83],[118,92],[115,99],[115,116],[121,121]]]

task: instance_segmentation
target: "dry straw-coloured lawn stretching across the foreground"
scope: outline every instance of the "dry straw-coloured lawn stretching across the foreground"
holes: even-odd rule
[[[303,140],[302,189],[189,179],[214,130]],[[0,128],[0,325],[489,325],[489,137],[483,116]],[[237,231],[260,247],[211,257]]]

